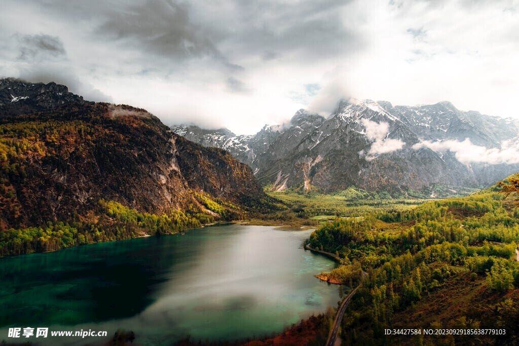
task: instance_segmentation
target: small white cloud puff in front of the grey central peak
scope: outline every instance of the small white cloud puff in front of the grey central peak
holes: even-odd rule
[[[392,153],[401,150],[405,143],[401,140],[386,138],[389,133],[387,122],[377,123],[368,119],[362,119],[362,124],[366,128],[366,136],[373,141],[370,151],[367,152],[366,160],[371,161],[380,154]]]

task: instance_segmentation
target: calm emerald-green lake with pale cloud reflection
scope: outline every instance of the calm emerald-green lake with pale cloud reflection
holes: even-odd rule
[[[122,328],[145,345],[278,333],[339,300],[313,276],[335,264],[302,249],[309,234],[225,225],[1,258],[0,340],[17,340],[8,327]]]

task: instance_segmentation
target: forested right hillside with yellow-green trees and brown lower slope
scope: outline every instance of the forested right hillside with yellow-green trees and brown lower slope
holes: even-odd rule
[[[337,218],[309,245],[344,264],[323,278],[356,286],[343,320],[347,344],[503,344],[517,341],[519,213],[500,187],[409,211]],[[389,337],[385,328],[504,328],[506,335]]]

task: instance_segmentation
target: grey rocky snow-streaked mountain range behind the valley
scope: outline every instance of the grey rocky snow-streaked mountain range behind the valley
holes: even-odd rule
[[[519,170],[517,164],[461,162],[452,151],[421,145],[470,139],[474,145],[499,148],[519,134],[517,120],[463,112],[449,102],[392,106],[341,100],[327,118],[300,109],[289,124],[265,127],[253,136],[193,126],[172,130],[228,150],[274,190],[301,186],[330,192],[356,186],[398,192],[434,183],[476,187]]]

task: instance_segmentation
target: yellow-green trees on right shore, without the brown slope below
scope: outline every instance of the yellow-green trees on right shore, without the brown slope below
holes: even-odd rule
[[[488,294],[504,295],[519,288],[518,241],[517,212],[495,191],[431,201],[411,211],[337,218],[309,239],[312,247],[337,252],[347,262],[325,274],[348,285],[354,278],[353,263],[368,273],[344,322],[349,331],[346,343],[384,339],[384,328],[392,325],[395,315],[456,280],[482,282]],[[456,297],[457,292],[446,294],[445,299],[456,299],[449,296]],[[463,314],[457,318],[452,325],[466,328],[480,323]],[[491,321],[495,325],[501,320]]]

